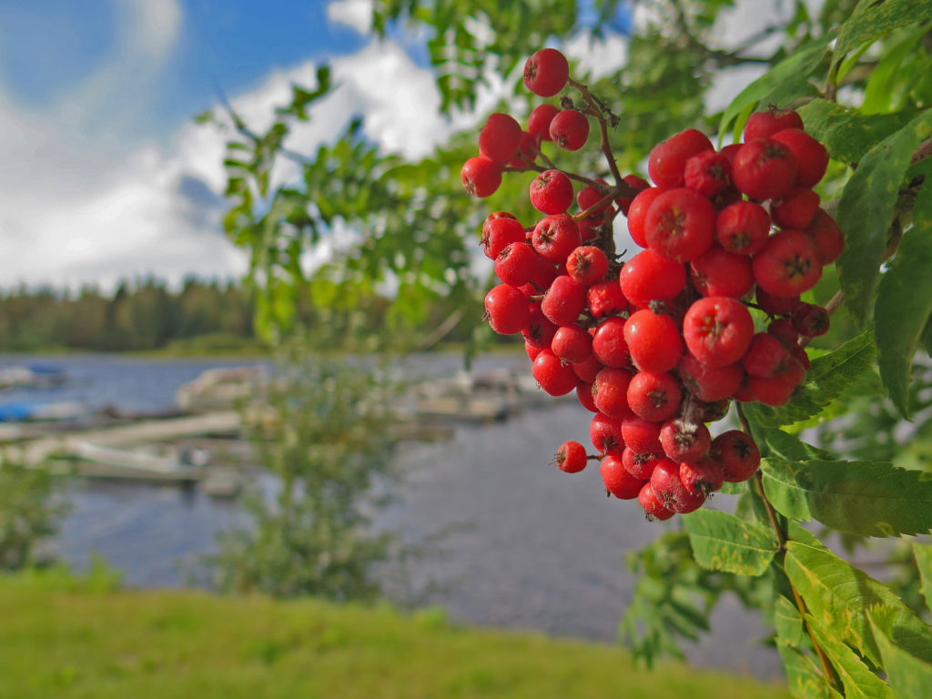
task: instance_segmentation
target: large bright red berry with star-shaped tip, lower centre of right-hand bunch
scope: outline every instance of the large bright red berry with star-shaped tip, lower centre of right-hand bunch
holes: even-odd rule
[[[709,366],[740,360],[754,336],[754,320],[745,306],[728,296],[696,301],[683,318],[683,338],[692,356]]]

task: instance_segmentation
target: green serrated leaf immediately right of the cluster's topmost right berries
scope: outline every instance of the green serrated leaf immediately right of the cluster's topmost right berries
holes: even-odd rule
[[[902,128],[909,117],[902,114],[864,117],[851,107],[813,100],[799,109],[806,133],[829,149],[835,160],[853,164],[870,148]]]

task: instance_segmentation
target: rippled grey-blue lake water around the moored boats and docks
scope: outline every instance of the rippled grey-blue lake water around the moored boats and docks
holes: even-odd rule
[[[205,369],[249,363],[105,355],[51,359],[78,381],[51,391],[9,392],[0,400],[167,410],[178,386]],[[27,361],[0,356],[0,365]],[[516,361],[484,358],[475,368]],[[437,374],[459,367],[455,356],[411,362]],[[399,458],[410,465],[410,477],[380,526],[401,530],[408,541],[451,525],[470,526],[444,541],[446,555],[412,564],[413,588],[441,583],[432,601],[455,621],[613,640],[634,584],[624,568],[625,553],[676,524],[646,522],[636,503],[606,498],[597,468],[570,475],[549,465],[561,442],[587,443],[589,416],[578,405],[555,402],[507,422],[459,426],[448,442],[407,446]],[[236,501],[177,487],[75,481],[68,494],[72,509],[55,551],[77,568],[88,566],[92,554],[102,555],[132,586],[189,583],[217,532],[241,517]],[[726,498],[720,498],[723,506]],[[779,675],[774,651],[759,643],[765,629],[756,614],[726,598],[711,621],[712,633],[687,648],[693,664]]]

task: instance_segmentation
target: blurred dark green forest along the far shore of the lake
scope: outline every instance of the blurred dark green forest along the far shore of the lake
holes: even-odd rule
[[[298,309],[298,317],[317,328],[320,347],[336,347],[349,335],[373,332],[391,345],[388,306],[377,295],[355,299],[349,313],[315,308],[308,301]],[[443,301],[428,308],[425,330],[443,322],[451,310]],[[470,310],[445,340],[470,336],[483,309]],[[255,335],[254,314],[250,291],[235,281],[189,277],[180,289],[172,290],[165,281],[145,278],[121,281],[110,294],[96,286],[82,287],[77,293],[20,286],[0,291],[0,351],[261,351],[265,347]]]

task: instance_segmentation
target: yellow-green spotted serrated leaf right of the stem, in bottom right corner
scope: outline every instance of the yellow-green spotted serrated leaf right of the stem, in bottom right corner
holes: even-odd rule
[[[891,624],[906,648],[924,658],[932,653],[932,644],[923,650],[928,626],[890,588],[830,551],[788,541],[784,569],[816,624],[873,665],[881,665],[881,655],[866,610],[875,605],[890,610]]]

